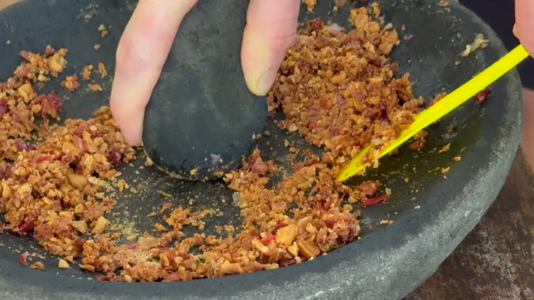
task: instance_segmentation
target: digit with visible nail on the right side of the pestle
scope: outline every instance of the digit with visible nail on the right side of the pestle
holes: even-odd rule
[[[250,0],[241,64],[251,92],[264,95],[296,40],[300,0]]]

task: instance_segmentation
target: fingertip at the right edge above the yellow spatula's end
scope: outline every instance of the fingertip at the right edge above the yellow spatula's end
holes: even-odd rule
[[[534,56],[534,1],[515,1],[514,33],[521,44]]]

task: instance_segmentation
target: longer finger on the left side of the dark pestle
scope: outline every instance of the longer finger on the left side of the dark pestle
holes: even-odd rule
[[[141,143],[143,119],[181,20],[197,0],[141,0],[120,39],[111,113],[131,145]]]

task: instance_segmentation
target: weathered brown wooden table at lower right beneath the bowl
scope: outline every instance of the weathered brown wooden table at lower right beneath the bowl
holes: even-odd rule
[[[521,151],[474,231],[406,297],[420,299],[534,299],[534,176]]]

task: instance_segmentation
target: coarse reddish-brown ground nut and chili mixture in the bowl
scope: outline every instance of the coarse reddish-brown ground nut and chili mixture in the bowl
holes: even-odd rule
[[[106,213],[113,211],[115,201],[108,198],[106,187],[125,185],[115,167],[132,160],[134,149],[125,144],[108,107],[99,108],[92,119],[51,125],[49,119],[58,118],[62,100],[54,92],[38,94],[33,86],[63,72],[67,50],[22,51],[24,62],[0,83],[4,228],[31,235],[61,256],[60,268],[77,264],[97,272],[100,280],[126,282],[275,269],[352,242],[361,229],[359,211],[351,204],[371,205],[389,194],[375,195],[380,188],[375,181],[355,188],[337,183],[337,172],[369,144],[369,158],[376,161],[378,149],[409,126],[423,104],[414,97],[407,75],[394,76],[398,65],[388,55],[398,35],[391,26],[373,21],[379,16],[374,3],[350,12],[354,28],[348,33],[320,19],[300,31],[300,41],[289,51],[268,94],[269,109],[282,110],[286,119],[278,124],[324,147],[325,153],[305,153],[305,160],[295,163],[293,172],[274,188],[267,183],[277,168],[262,160],[259,151],[241,169],[226,174],[224,181],[236,191],[243,217],[241,229],[227,238],[204,233],[186,237],[185,226],[202,229],[202,217],[213,212],[163,204],[169,214],[156,225],[159,235],[120,244],[107,232],[113,224]],[[102,63],[95,71],[107,74]],[[91,72],[92,66],[84,67],[81,78],[87,81]],[[77,76],[64,82],[68,90],[79,86]],[[193,253],[193,247],[200,252]],[[26,263],[26,258],[21,261]]]

